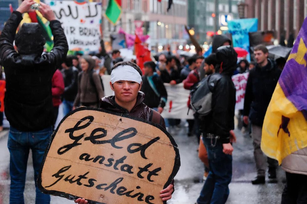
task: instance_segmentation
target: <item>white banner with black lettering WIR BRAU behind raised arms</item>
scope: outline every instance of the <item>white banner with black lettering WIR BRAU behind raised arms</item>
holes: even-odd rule
[[[70,50],[100,47],[101,3],[46,0],[62,24]]]

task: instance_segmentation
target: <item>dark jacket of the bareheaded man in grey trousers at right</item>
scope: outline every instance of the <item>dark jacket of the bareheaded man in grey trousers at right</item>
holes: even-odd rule
[[[281,70],[273,61],[260,67],[258,64],[249,72],[247,79],[243,115],[249,116],[252,124],[262,126]]]

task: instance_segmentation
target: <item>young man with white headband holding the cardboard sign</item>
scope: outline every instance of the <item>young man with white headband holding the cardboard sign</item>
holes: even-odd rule
[[[142,87],[142,71],[132,62],[119,62],[111,69],[111,89],[114,96],[104,97],[100,100],[99,107],[108,111],[122,113],[122,115],[142,118],[149,122],[159,124],[165,128],[163,117],[143,103],[144,93]],[[160,192],[162,201],[171,199],[174,184]],[[84,198],[78,198],[75,203],[88,203]]]

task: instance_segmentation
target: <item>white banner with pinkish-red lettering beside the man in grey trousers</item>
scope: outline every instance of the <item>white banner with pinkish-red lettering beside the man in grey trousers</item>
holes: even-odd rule
[[[236,74],[232,77],[232,82],[236,87],[236,110],[243,110],[246,84],[249,73]]]

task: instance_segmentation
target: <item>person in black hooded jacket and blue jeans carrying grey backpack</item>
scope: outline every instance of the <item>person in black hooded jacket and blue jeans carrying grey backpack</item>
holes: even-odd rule
[[[232,74],[237,65],[237,53],[230,46],[216,51],[216,73],[210,75],[211,112],[200,117],[200,130],[208,152],[210,172],[197,199],[197,204],[226,203],[232,178],[231,142],[236,104],[236,88]],[[208,72],[207,72],[208,73]],[[220,73],[220,74],[219,74]]]

